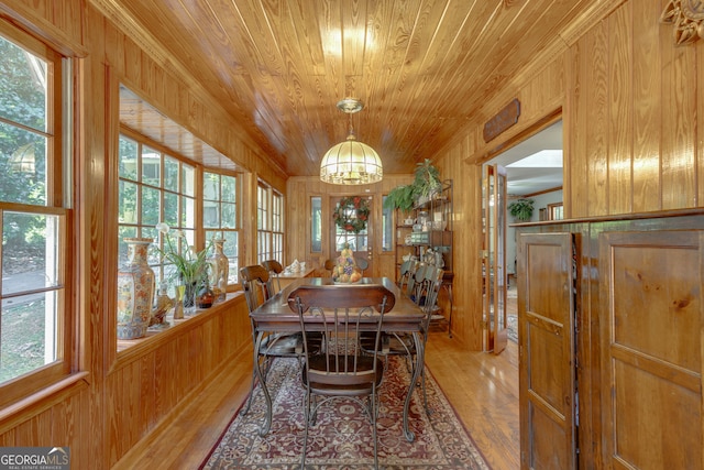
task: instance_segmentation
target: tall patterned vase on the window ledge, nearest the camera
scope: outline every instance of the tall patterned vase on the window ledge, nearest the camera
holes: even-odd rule
[[[118,271],[118,339],[146,335],[154,300],[154,271],[146,251],[150,238],[125,238],[128,264]]]

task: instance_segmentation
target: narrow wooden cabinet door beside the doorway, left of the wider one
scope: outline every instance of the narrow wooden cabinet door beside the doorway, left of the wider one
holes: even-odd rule
[[[521,468],[576,468],[571,233],[518,240]]]

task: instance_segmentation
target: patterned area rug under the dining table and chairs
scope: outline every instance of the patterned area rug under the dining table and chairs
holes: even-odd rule
[[[389,358],[382,384],[378,416],[378,460],[384,469],[488,469],[452,406],[427,373],[428,418],[422,392],[417,389],[410,406],[414,442],[403,435],[403,407],[409,374],[402,358]],[[427,371],[426,371],[427,372]],[[264,397],[255,390],[252,409],[240,413],[216,445],[201,469],[296,469],[302,450],[302,386],[295,360],[277,359],[267,383],[274,401],[271,431],[260,437]],[[258,392],[257,392],[258,391]],[[371,424],[355,403],[336,400],[318,411],[309,430],[307,469],[370,469],[373,467]]]

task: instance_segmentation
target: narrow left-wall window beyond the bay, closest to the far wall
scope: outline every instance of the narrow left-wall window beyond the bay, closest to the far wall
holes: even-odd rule
[[[284,263],[284,197],[263,183],[256,187],[256,259]]]

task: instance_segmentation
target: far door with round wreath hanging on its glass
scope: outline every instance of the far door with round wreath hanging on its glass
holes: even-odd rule
[[[359,199],[359,200],[358,200]],[[349,201],[350,205],[342,210],[340,210],[340,203],[342,200]],[[356,206],[355,206],[356,205]],[[359,210],[361,205],[364,205],[369,208],[369,214],[363,223],[358,223],[356,219],[361,216]],[[331,197],[330,198],[330,207],[333,211],[340,211],[343,215],[345,220],[351,221],[348,227],[350,230],[345,230],[345,228],[340,227],[340,225],[332,222],[330,223],[330,258],[337,259],[340,255],[340,252],[344,248],[344,244],[348,243],[350,249],[354,253],[354,259],[360,264],[360,267],[364,267],[364,276],[370,277],[374,274],[374,266],[372,265],[373,261],[373,245],[374,245],[374,221],[373,221],[373,210],[374,205],[372,204],[371,196],[349,196],[340,198]],[[361,228],[363,227],[363,228]],[[359,229],[359,231],[356,231]],[[363,266],[362,264],[366,264]]]

